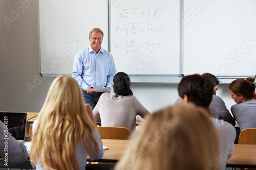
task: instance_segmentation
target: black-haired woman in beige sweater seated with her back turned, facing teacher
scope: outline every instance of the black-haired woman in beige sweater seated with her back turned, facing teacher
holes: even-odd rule
[[[149,112],[133,96],[130,89],[130,77],[124,72],[114,76],[115,94],[103,93],[93,109],[93,115],[101,126],[125,127],[133,131],[136,126],[136,115],[144,117]]]

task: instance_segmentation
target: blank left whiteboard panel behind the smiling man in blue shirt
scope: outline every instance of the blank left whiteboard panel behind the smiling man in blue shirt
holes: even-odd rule
[[[89,32],[104,32],[108,50],[108,0],[39,0],[39,51],[41,76],[71,75],[74,56],[90,45]]]

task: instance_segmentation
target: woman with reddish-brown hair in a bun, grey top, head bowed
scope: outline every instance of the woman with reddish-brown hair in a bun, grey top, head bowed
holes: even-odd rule
[[[236,105],[231,106],[231,112],[237,120],[240,130],[246,128],[256,128],[256,101],[255,84],[252,79],[237,79],[232,81],[229,86],[231,98]]]

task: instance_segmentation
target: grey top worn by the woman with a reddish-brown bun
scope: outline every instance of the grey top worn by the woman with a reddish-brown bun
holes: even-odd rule
[[[237,120],[240,130],[256,128],[256,101],[247,100],[231,106],[231,112]]]

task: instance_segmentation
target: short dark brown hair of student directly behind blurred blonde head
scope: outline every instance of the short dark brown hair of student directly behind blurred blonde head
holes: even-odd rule
[[[184,77],[178,85],[179,96],[182,99],[187,95],[191,103],[202,107],[209,107],[213,91],[214,86],[209,79],[197,74]]]

